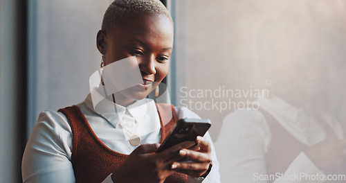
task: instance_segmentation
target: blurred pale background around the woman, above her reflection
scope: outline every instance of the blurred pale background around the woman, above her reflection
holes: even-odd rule
[[[211,119],[214,141],[227,114],[271,85],[286,101],[309,96],[344,122],[346,1],[163,2],[175,24],[171,101]],[[0,182],[21,182],[21,156],[39,112],[89,93],[109,3],[0,0]]]

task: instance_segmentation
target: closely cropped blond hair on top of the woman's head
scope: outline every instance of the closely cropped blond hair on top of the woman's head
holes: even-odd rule
[[[115,0],[104,13],[101,29],[108,33],[121,21],[133,15],[145,13],[165,15],[172,21],[170,12],[159,0]]]

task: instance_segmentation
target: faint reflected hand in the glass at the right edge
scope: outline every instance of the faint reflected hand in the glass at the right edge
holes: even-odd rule
[[[345,173],[346,139],[321,141],[304,153],[324,173]]]

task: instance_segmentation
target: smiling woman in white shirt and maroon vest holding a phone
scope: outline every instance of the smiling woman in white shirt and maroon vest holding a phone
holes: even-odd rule
[[[177,119],[198,117],[145,98],[167,76],[173,36],[160,1],[111,3],[97,35],[100,85],[78,105],[40,114],[23,157],[24,182],[219,182],[209,134],[197,146],[186,141],[155,153]],[[127,67],[112,75],[114,65]],[[120,74],[136,69],[140,80]]]

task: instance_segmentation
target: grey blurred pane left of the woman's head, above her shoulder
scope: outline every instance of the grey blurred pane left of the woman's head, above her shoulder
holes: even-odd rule
[[[96,34],[109,3],[30,1],[28,132],[39,112],[80,103],[89,93],[101,62]]]

